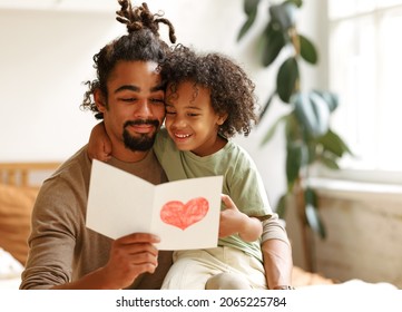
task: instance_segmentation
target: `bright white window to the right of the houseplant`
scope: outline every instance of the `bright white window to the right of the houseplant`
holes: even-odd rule
[[[355,157],[347,174],[402,183],[402,0],[329,0],[333,127]]]

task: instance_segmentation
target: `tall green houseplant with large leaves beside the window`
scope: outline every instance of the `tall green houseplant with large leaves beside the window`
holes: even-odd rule
[[[247,19],[238,32],[238,41],[253,27],[262,1],[244,0]],[[317,211],[317,196],[307,183],[311,168],[320,163],[331,169],[339,169],[340,158],[345,153],[351,154],[351,150],[330,125],[331,115],[339,106],[336,95],[326,90],[302,89],[300,64],[305,61],[314,66],[318,60],[314,43],[300,33],[296,27],[296,13],[302,4],[302,0],[269,4],[265,28],[258,37],[262,66],[269,67],[276,59],[283,59],[276,75],[276,88],[263,106],[259,117],[264,118],[274,98],[290,108],[290,113],[280,117],[267,130],[262,145],[269,142],[280,125],[284,125],[287,188],[276,205],[277,213],[283,217],[286,198],[296,196],[297,215],[304,231],[313,230],[325,238],[325,227]],[[305,248],[308,248],[306,245],[305,242]]]

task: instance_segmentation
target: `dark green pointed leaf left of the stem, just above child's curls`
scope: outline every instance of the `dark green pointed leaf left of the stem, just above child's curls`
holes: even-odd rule
[[[263,32],[263,66],[269,66],[280,55],[286,45],[285,37],[282,31],[275,30],[273,25],[268,22]]]

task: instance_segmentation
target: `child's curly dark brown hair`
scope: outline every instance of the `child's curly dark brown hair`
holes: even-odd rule
[[[210,103],[216,114],[227,114],[219,127],[226,138],[238,134],[247,136],[257,123],[255,84],[245,70],[227,56],[217,52],[196,53],[178,45],[163,64],[160,74],[176,92],[180,82],[192,81],[210,90]]]

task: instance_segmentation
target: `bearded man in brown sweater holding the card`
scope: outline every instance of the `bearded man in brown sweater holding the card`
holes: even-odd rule
[[[151,146],[165,117],[158,65],[168,46],[159,39],[158,22],[169,26],[171,41],[174,29],[155,20],[146,4],[133,10],[119,2],[118,20],[128,35],[95,56],[98,79],[88,82],[82,105],[105,120],[114,146],[109,164],[159,184],[166,176]],[[160,287],[171,255],[156,250],[158,237],[134,233],[112,241],[86,227],[90,168],[82,147],[43,183],[20,289]]]

